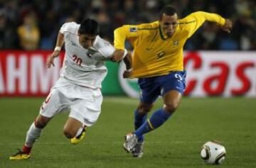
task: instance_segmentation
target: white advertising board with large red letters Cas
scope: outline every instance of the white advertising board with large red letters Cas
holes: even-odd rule
[[[186,95],[256,96],[256,52],[186,52]]]

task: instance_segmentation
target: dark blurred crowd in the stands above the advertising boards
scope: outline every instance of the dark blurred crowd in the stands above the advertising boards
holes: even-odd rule
[[[0,49],[52,50],[60,26],[67,21],[96,18],[103,38],[113,40],[113,30],[123,24],[155,21],[166,4],[177,7],[182,18],[193,11],[219,13],[234,22],[227,35],[214,24],[205,24],[193,35],[188,50],[256,50],[256,2],[253,0],[1,0]],[[23,44],[23,28],[31,45]]]

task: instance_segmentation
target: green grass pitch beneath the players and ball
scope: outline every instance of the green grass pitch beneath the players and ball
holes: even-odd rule
[[[183,99],[178,111],[161,128],[146,135],[144,157],[134,159],[122,149],[132,130],[137,100],[105,97],[102,115],[79,145],[62,133],[68,113],[55,116],[43,130],[28,160],[10,161],[43,99],[0,98],[0,167],[215,167],[202,162],[201,145],[223,142],[227,157],[220,167],[256,167],[256,99]],[[161,106],[161,100],[155,109]]]

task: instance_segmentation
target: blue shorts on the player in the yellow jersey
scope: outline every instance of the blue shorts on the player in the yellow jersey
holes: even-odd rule
[[[158,96],[167,91],[176,90],[183,94],[186,89],[186,71],[175,71],[158,77],[139,78],[138,84],[142,91],[140,101],[154,103]]]

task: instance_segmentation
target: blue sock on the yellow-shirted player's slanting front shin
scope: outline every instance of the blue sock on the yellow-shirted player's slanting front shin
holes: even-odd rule
[[[142,126],[140,126],[134,134],[139,138],[144,133],[148,133],[151,130],[159,128],[167,119],[171,116],[171,113],[166,113],[163,108],[154,112],[151,118],[148,121],[144,122]]]

